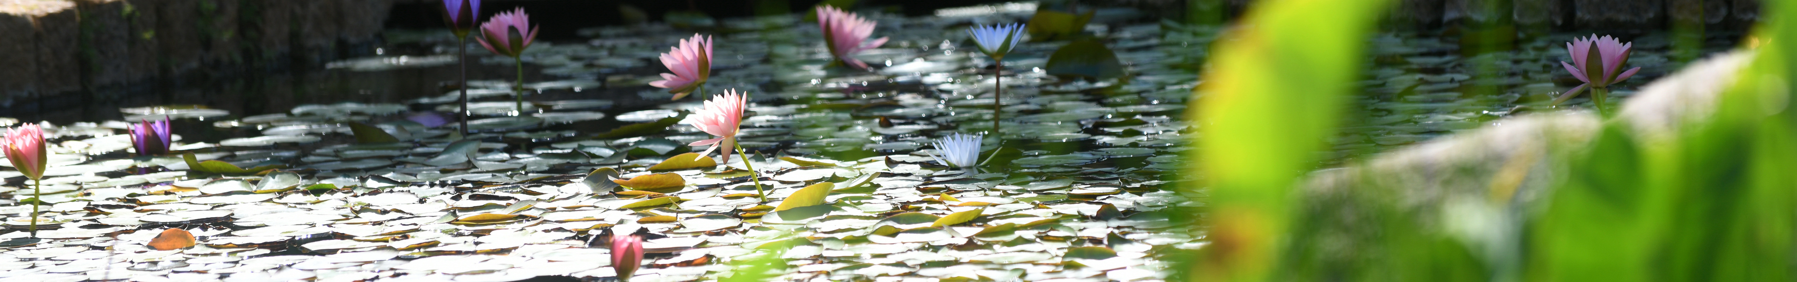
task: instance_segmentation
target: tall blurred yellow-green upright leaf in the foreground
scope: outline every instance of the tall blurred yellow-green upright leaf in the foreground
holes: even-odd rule
[[[1195,101],[1211,242],[1190,280],[1269,280],[1281,269],[1292,185],[1333,131],[1382,2],[1269,0],[1218,40]],[[1035,27],[1035,25],[1031,25]],[[1267,124],[1281,124],[1278,128]]]

